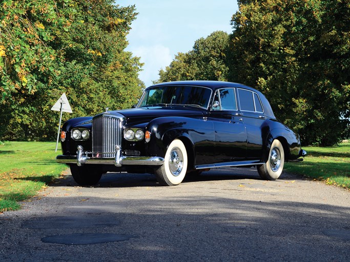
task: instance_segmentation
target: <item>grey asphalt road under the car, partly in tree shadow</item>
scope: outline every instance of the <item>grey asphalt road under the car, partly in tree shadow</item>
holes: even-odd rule
[[[221,168],[174,187],[69,173],[0,215],[0,261],[350,261],[350,191]]]

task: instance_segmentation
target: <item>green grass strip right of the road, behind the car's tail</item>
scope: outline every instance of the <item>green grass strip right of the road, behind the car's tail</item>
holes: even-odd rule
[[[284,170],[350,189],[350,143],[334,147],[303,147],[303,162],[285,163]]]

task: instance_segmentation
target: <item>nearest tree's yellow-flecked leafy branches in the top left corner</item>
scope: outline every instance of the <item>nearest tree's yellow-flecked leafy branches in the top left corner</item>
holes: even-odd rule
[[[57,54],[48,42],[54,36],[47,28],[67,27],[63,8],[68,0],[5,0],[0,5],[0,90],[33,94],[49,84],[57,73]],[[57,11],[59,10],[59,11]]]

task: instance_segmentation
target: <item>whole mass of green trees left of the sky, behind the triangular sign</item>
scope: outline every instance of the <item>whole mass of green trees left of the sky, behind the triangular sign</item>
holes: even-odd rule
[[[54,139],[59,113],[50,108],[64,92],[73,110],[64,121],[137,102],[144,86],[138,79],[142,64],[124,51],[135,7],[113,3],[2,4],[0,138]]]

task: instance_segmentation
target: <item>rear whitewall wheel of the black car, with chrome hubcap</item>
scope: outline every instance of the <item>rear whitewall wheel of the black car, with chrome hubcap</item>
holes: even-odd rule
[[[272,142],[269,158],[265,164],[257,166],[258,173],[262,179],[276,180],[281,176],[284,166],[284,150],[281,142],[275,139]]]

